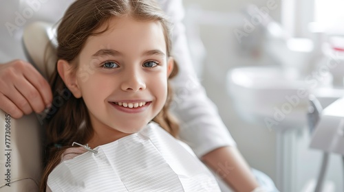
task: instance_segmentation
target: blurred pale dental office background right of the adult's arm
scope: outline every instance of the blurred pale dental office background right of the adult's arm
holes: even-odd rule
[[[184,6],[198,78],[249,165],[281,191],[314,191],[323,151],[310,147],[309,114],[319,108],[309,98],[325,108],[344,95],[344,2],[184,0]],[[330,153],[323,191],[343,191],[343,180],[342,156]]]

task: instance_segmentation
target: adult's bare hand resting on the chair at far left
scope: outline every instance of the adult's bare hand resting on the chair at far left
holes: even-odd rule
[[[14,118],[42,112],[52,103],[45,78],[23,60],[0,64],[0,109]]]

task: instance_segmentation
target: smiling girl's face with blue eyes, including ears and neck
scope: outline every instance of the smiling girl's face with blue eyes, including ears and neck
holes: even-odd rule
[[[138,132],[158,115],[172,69],[159,22],[113,18],[106,32],[89,36],[69,87],[89,110],[94,128],[89,145]]]

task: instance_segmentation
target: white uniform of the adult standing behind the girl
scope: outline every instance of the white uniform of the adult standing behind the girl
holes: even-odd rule
[[[0,63],[25,59],[21,45],[23,27],[34,21],[56,23],[72,0],[5,1],[0,6]],[[160,0],[162,9],[171,17],[173,56],[180,73],[173,80],[173,113],[181,121],[180,138],[189,144],[197,156],[222,146],[235,145],[217,114],[217,108],[206,97],[193,69],[182,19],[182,0]]]

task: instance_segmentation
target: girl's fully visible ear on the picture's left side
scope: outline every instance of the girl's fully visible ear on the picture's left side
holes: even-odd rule
[[[82,94],[76,80],[76,72],[72,70],[72,64],[69,64],[66,60],[58,60],[57,71],[69,91],[73,93],[74,97],[80,98]]]

